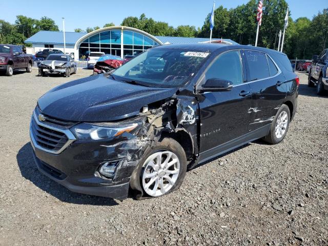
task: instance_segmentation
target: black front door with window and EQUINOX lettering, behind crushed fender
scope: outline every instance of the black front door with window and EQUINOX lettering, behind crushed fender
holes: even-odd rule
[[[252,95],[250,86],[243,83],[239,51],[220,54],[206,71],[202,83],[210,78],[229,80],[233,83],[231,91],[204,92],[198,96],[200,152],[215,153],[215,147],[248,132],[248,109],[252,104]]]

